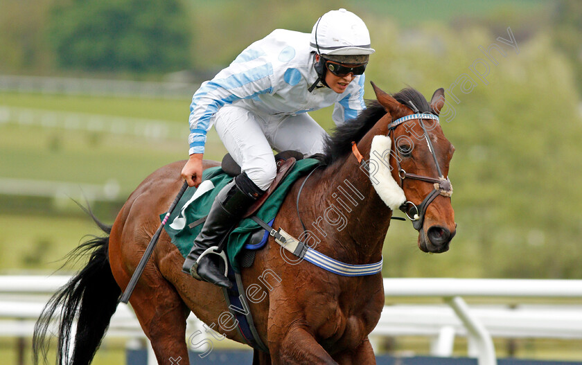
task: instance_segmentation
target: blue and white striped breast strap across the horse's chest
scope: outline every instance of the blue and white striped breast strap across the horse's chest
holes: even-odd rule
[[[333,274],[342,276],[367,276],[378,274],[380,271],[382,271],[382,262],[384,261],[383,258],[378,262],[366,265],[346,264],[345,262],[330,258],[329,256],[326,256],[323,253],[308,247],[307,244],[295,239],[292,235],[283,231],[281,228],[279,230],[272,229],[272,227],[256,216],[252,217],[252,219],[260,224],[263,229],[269,232],[269,234],[274,237],[275,242],[280,244],[283,249],[293,253],[294,256],[297,256],[298,258],[311,262],[315,266],[321,267],[321,269],[333,272]]]

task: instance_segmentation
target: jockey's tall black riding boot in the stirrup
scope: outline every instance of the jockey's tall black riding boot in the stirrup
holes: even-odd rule
[[[232,283],[218,268],[217,262],[220,258],[213,253],[206,254],[202,258],[200,255],[210,247],[217,246],[222,237],[261,195],[263,195],[263,190],[259,189],[245,173],[238,175],[227,186],[224,186],[214,199],[202,231],[194,240],[194,246],[186,256],[182,271],[201,281],[221,287],[231,287]]]

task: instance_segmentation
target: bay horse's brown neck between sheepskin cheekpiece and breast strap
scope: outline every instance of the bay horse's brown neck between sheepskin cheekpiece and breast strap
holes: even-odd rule
[[[327,227],[322,240],[326,249],[352,263],[380,260],[391,210],[378,197],[355,157],[328,166],[316,186],[313,202],[318,207],[319,224],[315,228],[323,233],[321,227]]]

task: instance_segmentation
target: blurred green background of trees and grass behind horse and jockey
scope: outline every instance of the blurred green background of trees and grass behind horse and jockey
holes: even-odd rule
[[[447,90],[457,236],[427,255],[394,222],[384,276],[582,278],[576,0],[0,0],[0,274],[61,267],[98,234],[73,199],[111,224],[150,172],[188,157],[201,82],[274,28],[310,33],[337,8],[370,30],[367,80]],[[331,109],[312,116],[332,130]],[[224,153],[212,130],[206,158]]]

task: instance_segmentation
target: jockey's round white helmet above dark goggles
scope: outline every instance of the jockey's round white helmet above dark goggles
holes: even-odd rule
[[[311,31],[310,49],[321,55],[371,55],[370,33],[364,21],[346,9],[321,16]]]

